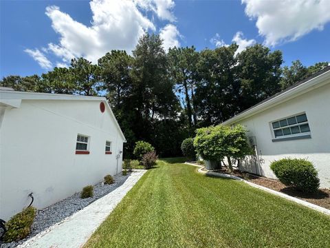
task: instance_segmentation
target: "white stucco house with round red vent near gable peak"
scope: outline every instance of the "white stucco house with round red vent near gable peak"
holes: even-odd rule
[[[0,218],[121,172],[124,142],[104,97],[0,88]]]

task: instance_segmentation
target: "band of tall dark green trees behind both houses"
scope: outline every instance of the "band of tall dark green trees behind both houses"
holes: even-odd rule
[[[151,143],[160,156],[181,154],[181,143],[199,127],[218,125],[272,94],[328,66],[283,66],[279,50],[261,44],[236,53],[233,43],[197,51],[166,52],[159,35],[144,34],[132,54],[112,50],[97,64],[72,59],[67,68],[32,76],[5,76],[0,86],[18,91],[106,96],[128,141]]]

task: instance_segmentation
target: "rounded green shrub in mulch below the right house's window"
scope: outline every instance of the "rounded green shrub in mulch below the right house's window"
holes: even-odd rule
[[[288,187],[303,192],[316,192],[320,186],[318,172],[313,164],[305,159],[283,158],[274,161],[270,168],[281,183]]]

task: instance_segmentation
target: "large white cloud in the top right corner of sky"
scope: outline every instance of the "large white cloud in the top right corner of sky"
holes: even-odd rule
[[[330,21],[329,0],[242,0],[245,14],[256,19],[259,34],[265,45],[276,45],[322,30]]]

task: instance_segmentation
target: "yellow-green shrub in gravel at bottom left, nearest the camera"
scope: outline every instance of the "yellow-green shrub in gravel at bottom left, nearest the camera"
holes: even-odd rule
[[[30,234],[31,225],[35,216],[35,207],[27,207],[19,214],[12,216],[8,223],[5,223],[5,227],[8,231],[3,236],[3,241],[12,242],[26,238]]]

